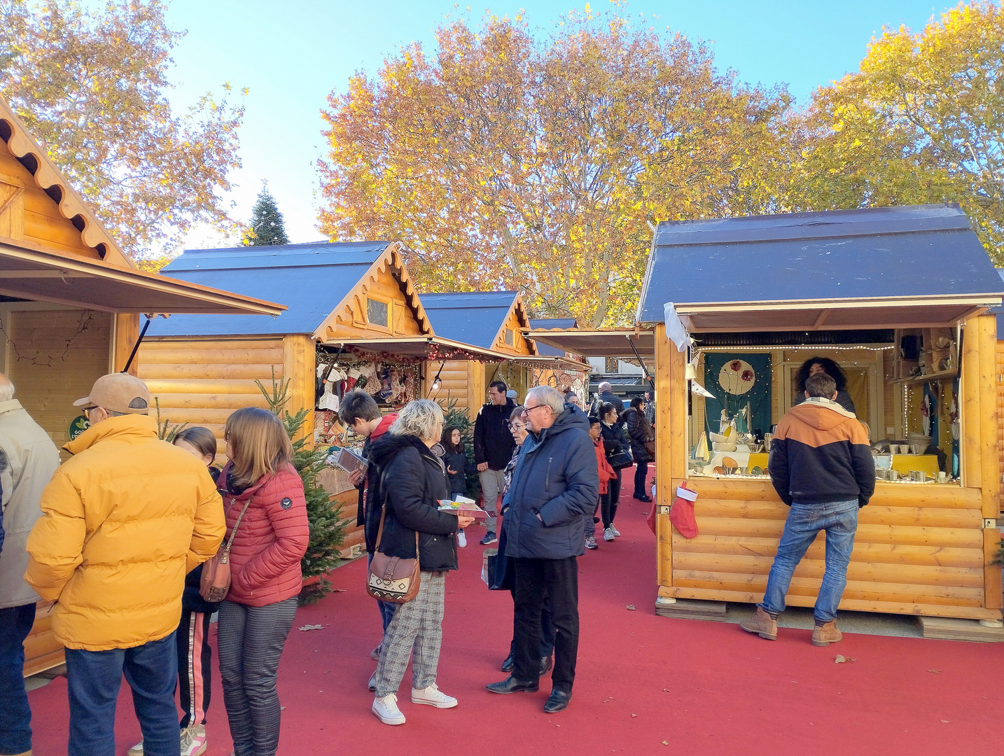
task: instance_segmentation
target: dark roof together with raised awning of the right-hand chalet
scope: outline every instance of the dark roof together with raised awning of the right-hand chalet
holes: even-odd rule
[[[1002,290],[956,205],[675,221],[656,230],[638,319],[673,302],[694,330],[936,324]]]

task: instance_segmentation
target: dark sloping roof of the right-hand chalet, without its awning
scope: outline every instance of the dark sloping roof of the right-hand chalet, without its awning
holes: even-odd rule
[[[1004,288],[965,213],[917,205],[659,225],[639,307],[992,294]]]

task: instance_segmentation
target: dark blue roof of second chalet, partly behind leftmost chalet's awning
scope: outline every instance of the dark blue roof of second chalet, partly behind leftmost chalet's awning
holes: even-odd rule
[[[269,315],[172,315],[152,336],[313,333],[391,242],[316,242],[273,247],[191,249],[161,274],[286,304]]]

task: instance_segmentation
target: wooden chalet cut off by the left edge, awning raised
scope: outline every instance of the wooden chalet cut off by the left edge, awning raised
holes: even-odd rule
[[[136,270],[0,100],[0,371],[56,446],[69,440],[80,415],[72,403],[87,396],[97,377],[126,366],[140,313],[270,317],[283,309]],[[38,604],[24,644],[25,675],[63,661],[50,607]]]

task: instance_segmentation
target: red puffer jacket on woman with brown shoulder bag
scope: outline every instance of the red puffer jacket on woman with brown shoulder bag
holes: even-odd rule
[[[298,595],[303,583],[300,559],[310,537],[299,474],[289,465],[235,496],[224,490],[227,472],[225,469],[220,475],[227,538],[244,503],[251,498],[230,549],[227,599],[247,606],[265,606]]]

